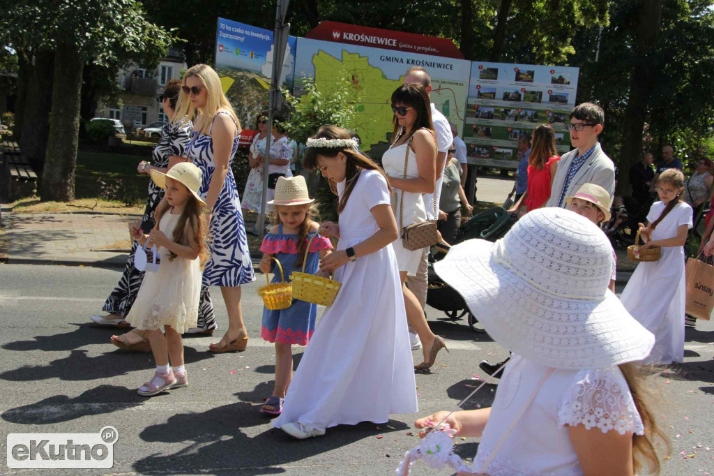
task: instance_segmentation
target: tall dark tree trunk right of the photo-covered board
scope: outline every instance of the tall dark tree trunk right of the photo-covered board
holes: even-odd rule
[[[654,48],[660,31],[663,0],[640,1],[640,24],[637,29],[635,61],[630,79],[628,104],[623,116],[623,143],[620,148],[618,194],[628,196],[630,167],[642,159],[643,128],[647,116],[650,91],[657,75],[652,74],[655,61]]]

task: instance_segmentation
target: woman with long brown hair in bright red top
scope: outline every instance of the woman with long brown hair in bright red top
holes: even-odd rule
[[[555,149],[555,132],[549,124],[540,124],[531,134],[531,154],[528,156],[528,189],[509,212],[517,212],[521,203],[526,213],[543,207],[550,198],[555,172],[558,171],[558,151]]]

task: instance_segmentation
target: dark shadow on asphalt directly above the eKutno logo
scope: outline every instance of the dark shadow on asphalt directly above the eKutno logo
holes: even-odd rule
[[[22,425],[49,425],[90,415],[104,415],[126,410],[143,405],[144,402],[146,397],[137,395],[135,389],[99,385],[74,398],[54,395],[30,405],[12,408],[0,417],[6,422]]]

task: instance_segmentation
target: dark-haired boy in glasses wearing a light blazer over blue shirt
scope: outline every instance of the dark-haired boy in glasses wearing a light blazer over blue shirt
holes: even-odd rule
[[[565,197],[575,195],[583,184],[600,185],[610,197],[613,196],[615,164],[598,142],[604,122],[605,113],[597,104],[585,102],[570,112],[570,121],[565,123],[565,129],[570,131],[570,143],[576,149],[560,157],[547,207],[568,207]]]

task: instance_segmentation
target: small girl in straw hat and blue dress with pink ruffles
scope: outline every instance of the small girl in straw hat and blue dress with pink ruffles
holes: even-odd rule
[[[276,208],[277,216],[275,226],[261,245],[262,272],[271,272],[272,259],[280,262],[286,282],[290,282],[293,271],[301,272],[303,264],[303,272],[315,274],[318,271],[320,259],[330,253],[332,244],[317,232],[319,224],[313,220],[317,215],[313,202],[315,200],[308,196],[305,177],[278,177],[274,198],[268,202]],[[278,273],[273,277],[273,283],[276,282],[281,282]],[[273,395],[261,407],[261,412],[268,415],[282,412],[283,399],[293,378],[292,346],[308,344],[316,319],[317,305],[299,299],[293,299],[287,309],[263,309],[261,337],[275,343],[276,362]]]

